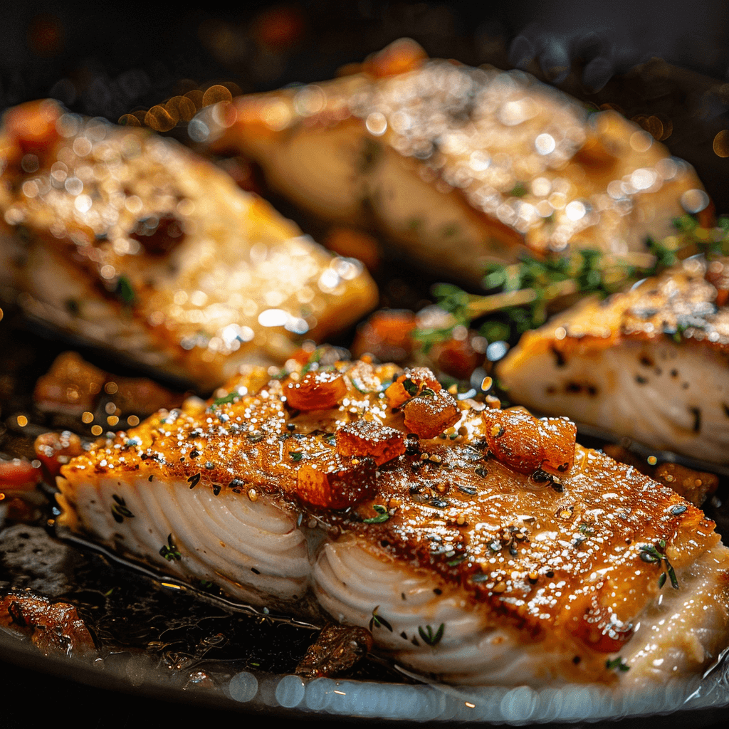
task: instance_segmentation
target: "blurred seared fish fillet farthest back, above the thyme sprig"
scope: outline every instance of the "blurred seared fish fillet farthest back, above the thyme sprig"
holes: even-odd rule
[[[620,114],[588,115],[529,74],[427,61],[402,42],[361,73],[243,96],[200,120],[214,149],[256,160],[300,207],[374,225],[469,281],[525,246],[621,254],[685,211],[710,217],[693,169]]]

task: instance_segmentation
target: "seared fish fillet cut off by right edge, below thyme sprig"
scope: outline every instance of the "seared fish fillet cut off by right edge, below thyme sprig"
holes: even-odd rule
[[[694,257],[526,332],[510,398],[654,448],[729,463],[729,258]]]

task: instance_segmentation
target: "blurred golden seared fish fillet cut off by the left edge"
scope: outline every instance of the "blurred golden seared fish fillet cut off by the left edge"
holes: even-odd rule
[[[0,294],[137,362],[219,385],[373,307],[332,257],[214,165],[42,101],[0,129]]]

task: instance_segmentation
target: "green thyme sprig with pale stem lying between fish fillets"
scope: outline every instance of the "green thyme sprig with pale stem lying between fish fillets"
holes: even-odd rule
[[[483,287],[491,293],[486,295],[469,294],[453,284],[436,284],[432,289],[436,303],[451,314],[452,323],[415,330],[413,338],[427,354],[434,344],[449,340],[455,327],[472,328],[479,319],[492,315],[480,324],[480,335],[489,342],[515,340],[577,297],[607,297],[696,253],[729,255],[729,217],[706,228],[695,217],[684,215],[674,219],[674,227],[676,234],[662,241],[649,238],[647,252],[617,256],[583,249],[569,255],[524,256],[511,265],[489,264]]]

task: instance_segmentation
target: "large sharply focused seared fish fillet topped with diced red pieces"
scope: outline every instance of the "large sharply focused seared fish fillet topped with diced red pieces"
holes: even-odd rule
[[[307,365],[305,369],[308,369]],[[424,368],[253,372],[61,469],[61,525],[462,684],[643,685],[729,642],[714,523],[563,418]],[[622,668],[619,668],[622,666]]]

